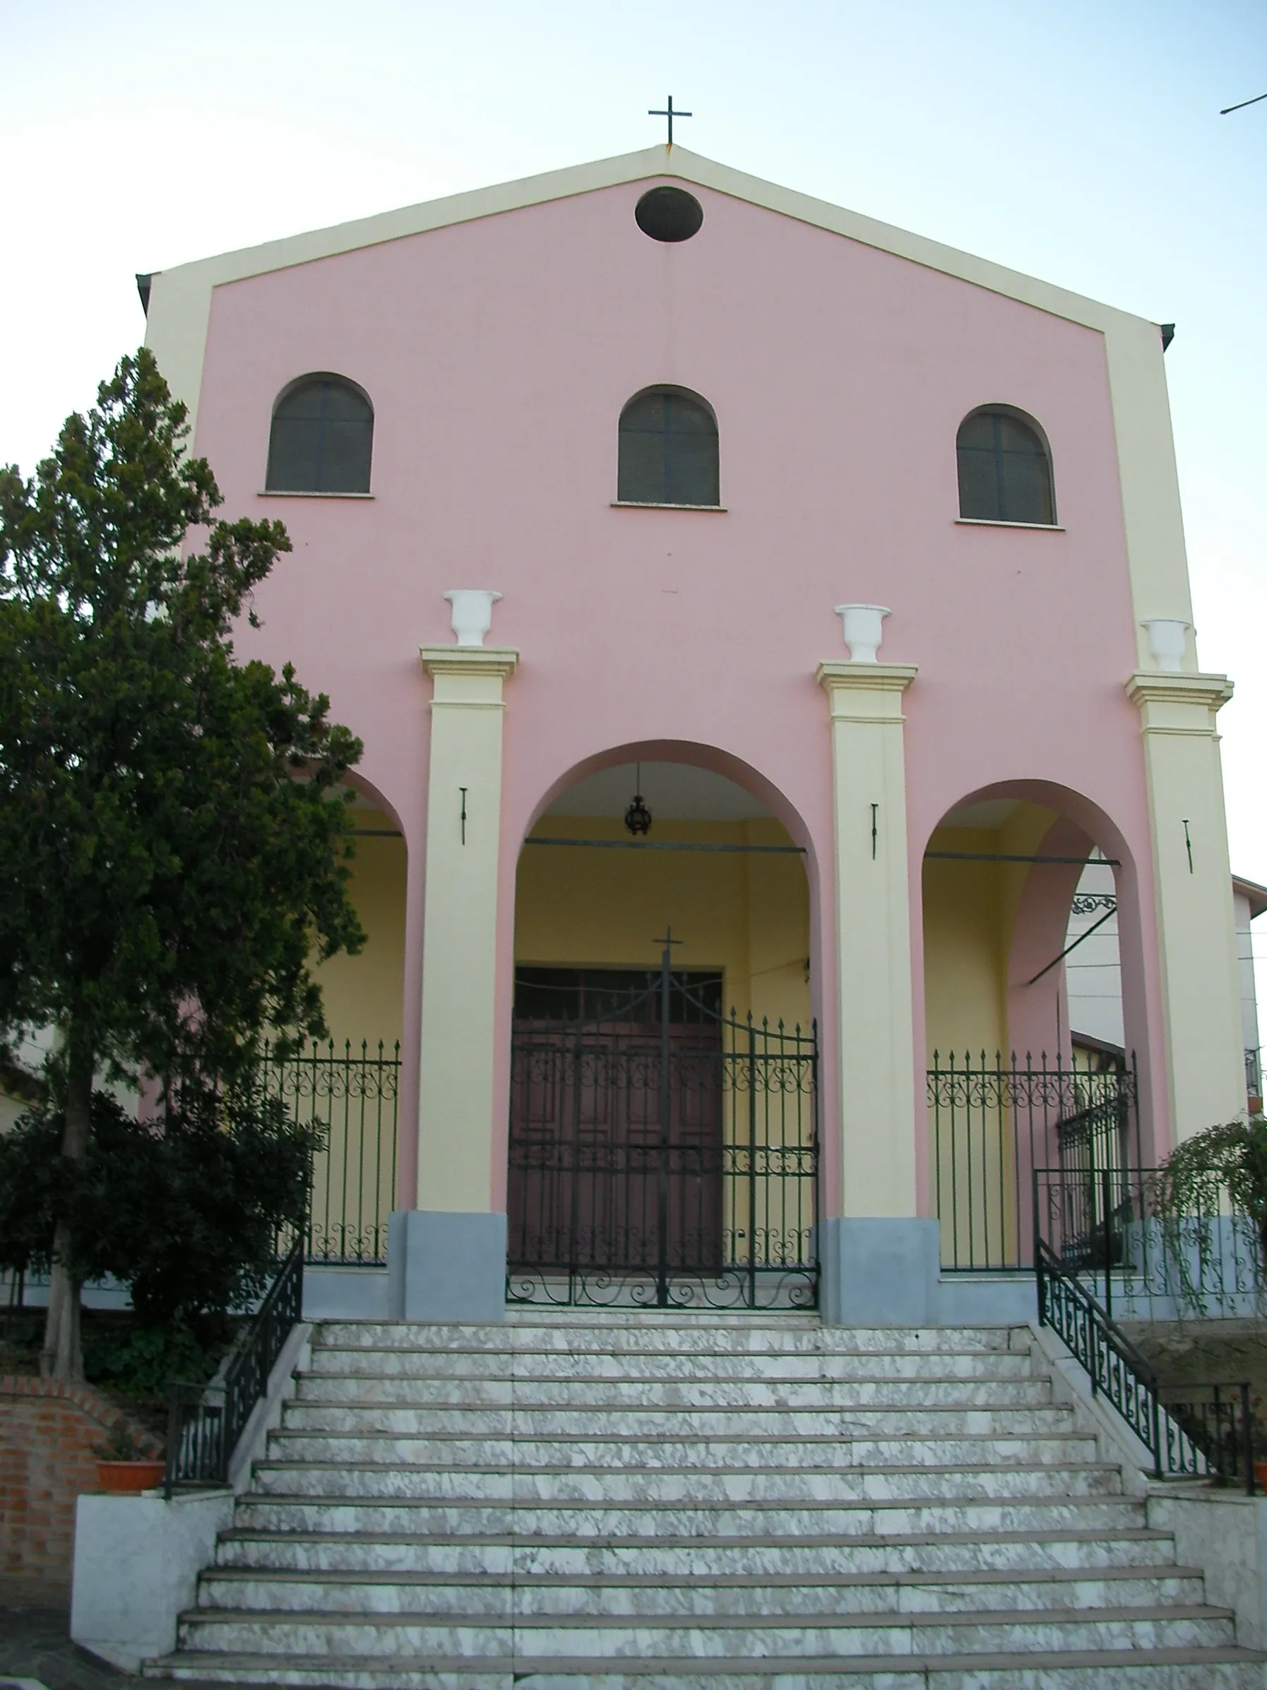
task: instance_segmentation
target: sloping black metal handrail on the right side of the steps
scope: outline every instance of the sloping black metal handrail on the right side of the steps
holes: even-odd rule
[[[1152,1362],[1110,1320],[1086,1286],[1064,1271],[1061,1257],[1041,1234],[1036,1237],[1034,1276],[1039,1325],[1051,1327],[1064,1340],[1086,1371],[1091,1394],[1103,1396],[1135,1433],[1152,1457],[1154,1477],[1243,1482],[1245,1494],[1253,1496],[1248,1384],[1191,1384],[1183,1387],[1186,1401],[1164,1401]]]

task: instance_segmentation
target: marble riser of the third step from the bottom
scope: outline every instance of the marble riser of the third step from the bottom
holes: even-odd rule
[[[463,1614],[495,1621],[508,1614],[877,1614],[973,1609],[1112,1609],[1177,1604],[1199,1607],[1194,1568],[1015,1568],[949,1573],[784,1573],[644,1577],[476,1573],[264,1572],[218,1567],[198,1590],[203,1609],[252,1612]]]

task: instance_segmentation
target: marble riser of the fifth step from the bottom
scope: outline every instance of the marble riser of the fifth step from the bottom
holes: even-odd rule
[[[578,1541],[608,1536],[806,1536],[858,1531],[1052,1531],[1061,1526],[1115,1528],[1139,1523],[1140,1504],[1127,1497],[990,1497],[951,1501],[875,1499],[808,1506],[784,1501],[743,1504],[679,1502],[525,1502],[500,1504],[453,1497],[367,1501],[341,1496],[260,1496],[240,1499],[245,1528],[280,1531],[514,1533],[519,1538],[571,1533]]]

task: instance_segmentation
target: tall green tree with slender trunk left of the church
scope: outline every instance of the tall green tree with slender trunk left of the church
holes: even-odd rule
[[[73,1163],[96,1077],[154,1080],[177,1109],[240,1088],[267,1029],[324,1031],[313,958],[363,941],[340,791],[360,742],[289,664],[235,661],[291,542],[213,521],[184,417],[142,350],[32,480],[0,470],[0,1033],[56,1028]],[[83,1372],[83,1257],[59,1215],[54,1377]]]

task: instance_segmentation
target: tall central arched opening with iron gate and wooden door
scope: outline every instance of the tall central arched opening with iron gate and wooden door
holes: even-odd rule
[[[639,838],[625,826],[635,786],[654,818]],[[561,771],[522,840],[508,1295],[563,1296],[568,1264],[569,1300],[601,1281],[671,1306],[813,1306],[818,946],[802,818],[742,759],[639,740]]]

